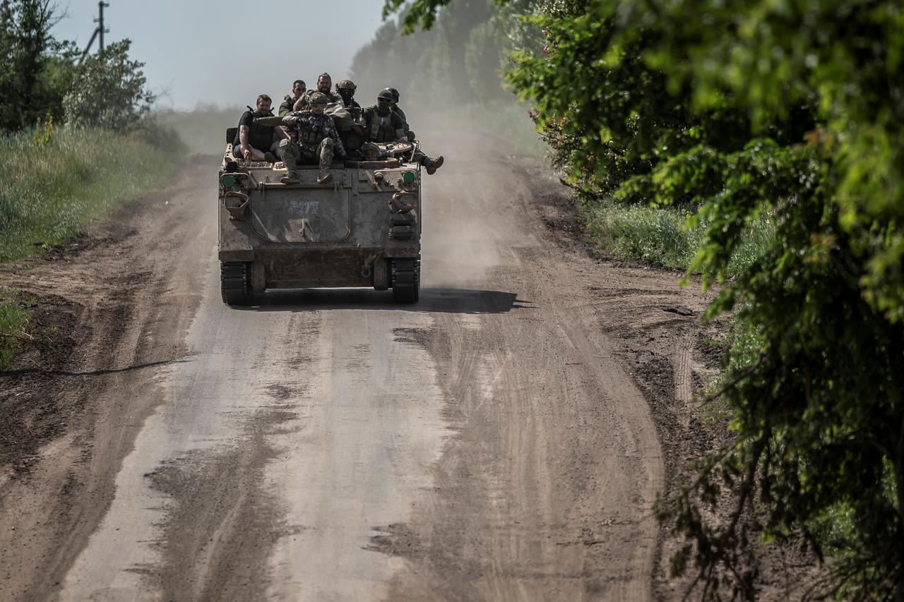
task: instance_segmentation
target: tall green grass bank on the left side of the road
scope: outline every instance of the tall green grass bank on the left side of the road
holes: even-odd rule
[[[160,128],[130,134],[59,129],[0,137],[0,262],[71,238],[172,174],[183,152]]]

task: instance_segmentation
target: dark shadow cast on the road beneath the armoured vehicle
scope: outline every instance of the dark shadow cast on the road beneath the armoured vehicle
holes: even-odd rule
[[[532,307],[516,293],[466,288],[421,288],[420,301],[413,305],[392,302],[392,291],[367,288],[304,288],[272,290],[256,295],[250,307],[258,312],[309,312],[328,309],[376,309],[381,311],[428,312],[438,314],[504,314],[512,309]]]

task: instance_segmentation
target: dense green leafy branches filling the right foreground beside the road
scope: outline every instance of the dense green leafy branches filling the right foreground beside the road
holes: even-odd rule
[[[437,6],[416,0],[413,23]],[[901,599],[904,11],[893,0],[541,8],[528,23],[545,45],[518,53],[509,80],[582,193],[695,212],[692,269],[707,284],[725,281],[750,223],[775,223],[770,248],[708,313],[736,310],[758,353],[726,362],[736,445],[663,506],[688,541],[673,567],[696,569],[703,597],[719,584],[753,597],[744,550],[801,532],[833,556],[817,593]],[[706,519],[726,492],[730,520]],[[849,528],[827,526],[839,515]]]

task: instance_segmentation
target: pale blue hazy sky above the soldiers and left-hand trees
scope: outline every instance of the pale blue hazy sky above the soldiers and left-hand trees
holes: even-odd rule
[[[277,100],[292,80],[313,87],[323,71],[341,80],[380,26],[382,7],[381,0],[108,1],[105,42],[130,38],[158,103],[174,108],[253,105],[261,92]],[[84,48],[97,0],[60,0],[58,10],[67,16],[54,35]]]

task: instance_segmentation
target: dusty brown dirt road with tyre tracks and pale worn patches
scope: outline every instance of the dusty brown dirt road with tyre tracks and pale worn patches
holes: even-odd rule
[[[42,445],[0,475],[0,599],[664,595],[656,402],[688,401],[704,299],[589,257],[501,144],[444,150],[417,306],[224,306],[211,165],[3,268],[71,349],[4,375]]]

